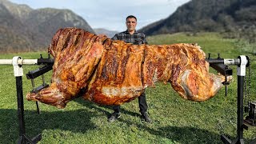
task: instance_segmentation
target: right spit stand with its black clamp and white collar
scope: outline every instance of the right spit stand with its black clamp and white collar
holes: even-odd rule
[[[231,75],[228,65],[237,66],[237,76],[238,76],[238,97],[237,97],[237,138],[234,141],[227,138],[225,135],[221,135],[221,140],[224,143],[232,143],[232,144],[243,144],[243,130],[248,130],[248,126],[244,122],[243,119],[243,97],[244,97],[244,78],[246,76],[246,67],[250,66],[250,58],[245,55],[240,55],[236,59],[223,59],[220,58],[209,58],[206,59],[207,62],[210,63],[210,66],[213,67],[215,70],[218,70],[223,75]],[[232,71],[232,70],[231,70]],[[250,142],[250,144],[256,143],[256,138]]]

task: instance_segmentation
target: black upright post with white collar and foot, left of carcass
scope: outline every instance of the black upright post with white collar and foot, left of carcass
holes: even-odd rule
[[[24,122],[24,102],[23,102],[23,89],[22,89],[22,65],[18,64],[18,60],[21,57],[13,58],[14,76],[16,77],[16,90],[17,90],[17,102],[18,102],[18,131],[19,138],[18,144],[37,143],[42,139],[42,134],[38,134],[36,137],[30,139],[25,134],[25,122]]]

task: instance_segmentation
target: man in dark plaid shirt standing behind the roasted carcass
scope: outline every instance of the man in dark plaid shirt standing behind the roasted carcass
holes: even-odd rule
[[[143,33],[138,33],[135,30],[137,26],[137,18],[133,15],[130,15],[126,18],[126,27],[127,30],[122,33],[115,34],[112,38],[113,40],[122,40],[127,43],[133,43],[134,45],[147,44],[146,36]],[[147,104],[146,104],[146,94],[143,92],[138,97],[139,109],[142,114],[142,120],[146,122],[151,122],[149,115],[147,114]],[[114,122],[120,115],[120,106],[113,106],[114,113],[108,118],[109,122]]]

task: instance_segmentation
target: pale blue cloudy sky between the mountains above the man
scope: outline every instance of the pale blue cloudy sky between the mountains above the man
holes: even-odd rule
[[[190,0],[10,0],[26,4],[33,9],[70,9],[82,16],[92,28],[126,30],[126,17],[134,15],[138,19],[137,29],[152,22],[167,18],[178,6]]]

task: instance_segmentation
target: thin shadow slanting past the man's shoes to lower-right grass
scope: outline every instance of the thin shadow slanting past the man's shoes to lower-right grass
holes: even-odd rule
[[[109,116],[110,113],[113,112],[112,106],[96,106],[91,102],[85,101],[82,98],[78,98],[74,100],[82,104],[82,106],[86,106],[88,108],[94,108],[95,110],[101,111],[106,116]],[[111,112],[108,112],[108,111]],[[139,117],[140,114],[131,112],[129,110],[122,109],[122,114],[130,114],[134,117]],[[179,143],[190,143],[190,144],[198,144],[198,143],[222,143],[220,140],[220,134],[215,134],[208,130],[201,130],[194,127],[178,127],[178,126],[166,126],[160,127],[158,129],[152,129],[148,124],[135,124],[135,122],[127,121],[123,118],[118,118],[119,122],[125,122],[127,125],[137,125],[142,130],[148,131],[150,134],[157,135],[162,138],[168,138],[173,140],[174,142]],[[154,125],[154,123],[152,123]]]

